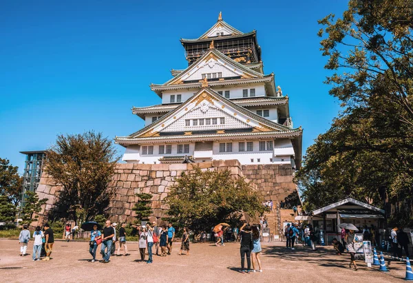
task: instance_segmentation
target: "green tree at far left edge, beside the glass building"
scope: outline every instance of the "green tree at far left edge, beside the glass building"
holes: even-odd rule
[[[0,158],[0,196],[7,196],[14,206],[21,202],[21,185],[19,167],[10,165],[10,160]]]

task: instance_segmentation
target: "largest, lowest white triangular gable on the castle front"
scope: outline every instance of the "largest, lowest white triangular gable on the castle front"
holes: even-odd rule
[[[228,119],[229,123],[233,123],[233,128],[248,127],[252,129],[252,132],[290,131],[288,127],[274,123],[271,120],[266,120],[244,109],[244,107],[232,103],[211,90],[211,88],[203,87],[197,94],[194,94],[192,98],[189,98],[165,116],[162,116],[162,118],[155,123],[129,135],[129,138],[159,136],[160,132],[174,132],[176,129],[180,131],[187,129],[188,132],[191,132],[191,130],[193,130],[192,127],[183,126],[182,128],[182,125],[185,125],[184,120],[191,116],[188,115],[191,112],[204,112],[203,116],[205,118],[224,117],[225,120]],[[211,116],[209,117],[208,115]],[[200,118],[203,116],[200,116]],[[176,123],[178,120],[180,120],[180,122]],[[218,127],[216,128],[218,129]],[[229,128],[229,125],[225,125],[224,128]],[[204,127],[204,129],[214,129],[214,127]]]

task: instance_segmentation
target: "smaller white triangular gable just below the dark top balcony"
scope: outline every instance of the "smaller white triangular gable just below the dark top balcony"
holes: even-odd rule
[[[198,61],[163,85],[180,85],[188,81],[200,81],[202,80],[202,74],[215,74],[215,77],[211,75],[211,78],[218,79],[218,73],[220,73],[222,78],[262,78],[264,76],[259,72],[255,72],[250,68],[237,63],[212,47],[208,52],[205,52]]]

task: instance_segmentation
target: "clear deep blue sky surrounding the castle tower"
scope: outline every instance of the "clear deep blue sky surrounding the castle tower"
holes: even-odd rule
[[[319,1],[0,0],[0,157],[50,147],[57,134],[126,136],[142,127],[132,106],[160,103],[150,83],[187,67],[179,39],[197,38],[222,11],[242,32],[257,30],[264,72],[290,97],[303,152],[330,127],[339,103],[323,81],[317,19],[346,9]],[[116,145],[119,154],[123,147]]]

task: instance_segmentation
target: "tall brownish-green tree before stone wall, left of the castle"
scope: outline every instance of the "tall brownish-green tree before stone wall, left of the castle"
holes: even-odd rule
[[[58,136],[45,167],[62,186],[50,218],[81,222],[105,213],[114,196],[115,189],[108,185],[118,159],[112,141],[100,133]]]

